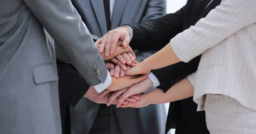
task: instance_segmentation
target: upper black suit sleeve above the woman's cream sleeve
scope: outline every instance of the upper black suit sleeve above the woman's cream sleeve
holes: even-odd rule
[[[133,29],[133,39],[130,46],[140,51],[159,50],[182,30],[184,9],[174,14],[166,14],[157,19],[151,19],[138,24],[129,24]]]

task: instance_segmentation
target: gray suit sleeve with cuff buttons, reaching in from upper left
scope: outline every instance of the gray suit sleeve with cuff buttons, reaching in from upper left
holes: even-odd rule
[[[90,32],[70,0],[23,1],[84,80],[92,86],[105,83],[108,70]],[[95,68],[98,68],[100,73],[96,73]]]

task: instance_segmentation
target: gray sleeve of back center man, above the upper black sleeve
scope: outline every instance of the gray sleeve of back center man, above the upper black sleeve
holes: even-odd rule
[[[149,0],[140,22],[162,17],[166,14],[166,0]]]

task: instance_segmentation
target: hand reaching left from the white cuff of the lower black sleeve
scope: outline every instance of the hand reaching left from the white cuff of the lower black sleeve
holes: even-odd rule
[[[128,88],[126,88],[126,91],[124,92],[123,90],[119,90],[119,91],[115,91],[111,97],[109,97],[108,103],[113,103],[114,100],[116,100],[116,98],[121,95],[121,97],[119,98],[116,107],[119,108],[122,103],[124,103],[125,99],[127,99],[128,97],[132,96],[132,95],[136,95],[136,94],[141,94],[144,91],[147,91],[149,87],[153,86],[152,81],[147,77],[145,80],[136,83]]]

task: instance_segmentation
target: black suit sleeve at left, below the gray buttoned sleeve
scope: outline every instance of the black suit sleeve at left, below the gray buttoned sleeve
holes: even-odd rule
[[[89,89],[90,85],[81,77],[73,66],[57,60],[58,87],[60,101],[75,106]]]

